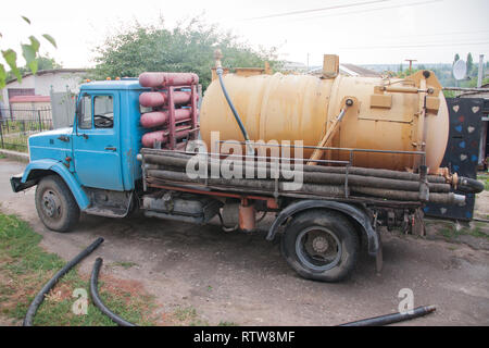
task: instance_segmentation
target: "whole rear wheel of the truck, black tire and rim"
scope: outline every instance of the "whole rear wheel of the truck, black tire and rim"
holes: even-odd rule
[[[281,236],[281,253],[304,278],[334,283],[353,271],[360,251],[355,227],[341,213],[314,209],[292,217]]]

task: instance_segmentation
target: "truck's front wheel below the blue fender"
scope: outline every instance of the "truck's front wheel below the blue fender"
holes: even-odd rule
[[[58,175],[45,176],[37,185],[36,209],[45,226],[54,232],[68,232],[79,220],[78,204]]]

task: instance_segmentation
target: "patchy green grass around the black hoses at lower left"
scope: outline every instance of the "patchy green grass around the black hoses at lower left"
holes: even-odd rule
[[[65,264],[59,256],[40,248],[41,239],[24,221],[0,213],[0,314],[21,321],[39,289]],[[154,298],[111,282],[99,282],[99,293],[113,312],[138,325],[154,324]],[[115,326],[90,300],[87,315],[74,314],[73,291],[77,288],[89,294],[89,279],[74,269],[48,294],[34,324]]]

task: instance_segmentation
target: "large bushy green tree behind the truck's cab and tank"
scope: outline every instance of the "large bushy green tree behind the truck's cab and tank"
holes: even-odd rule
[[[254,50],[216,25],[193,18],[168,29],[161,20],[156,25],[135,23],[108,37],[95,50],[97,65],[91,77],[134,77],[146,71],[192,72],[206,88],[216,48],[223,51],[223,65],[230,69],[264,66],[265,61],[276,67],[279,63],[274,48]]]

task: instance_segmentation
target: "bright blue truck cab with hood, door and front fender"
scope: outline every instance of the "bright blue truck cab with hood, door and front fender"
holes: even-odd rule
[[[82,85],[73,126],[29,138],[30,162],[22,176],[11,178],[13,190],[38,185],[49,176],[59,190],[70,191],[82,211],[126,215],[131,192],[141,179],[137,154],[148,130],[139,123],[143,111],[139,95],[146,90],[137,78]],[[43,204],[38,210],[43,209],[48,215],[61,214],[55,210],[60,209],[57,200],[62,195],[49,190],[43,195],[36,198],[36,204]],[[57,231],[68,225],[52,227]]]

